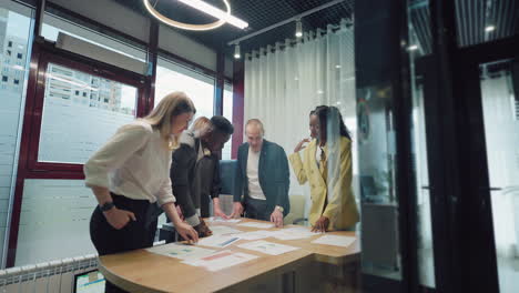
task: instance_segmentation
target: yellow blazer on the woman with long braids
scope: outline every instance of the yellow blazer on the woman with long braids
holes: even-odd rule
[[[306,181],[309,181],[312,196],[312,208],[308,216],[309,223],[315,225],[320,215],[325,215],[329,219],[328,230],[352,229],[359,220],[357,204],[355,203],[352,190],[352,141],[345,137],[340,137],[338,145],[332,149],[330,153],[328,145],[324,148],[326,158],[328,158],[328,185],[315,159],[317,150],[316,140],[312,140],[303,151],[303,160],[299,153],[293,153],[288,156],[288,161],[294,169],[299,184],[305,184]],[[333,196],[325,209],[328,192],[333,193]]]

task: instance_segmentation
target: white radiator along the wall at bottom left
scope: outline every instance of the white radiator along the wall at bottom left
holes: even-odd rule
[[[72,293],[74,275],[96,269],[98,255],[89,254],[0,270],[0,293]]]

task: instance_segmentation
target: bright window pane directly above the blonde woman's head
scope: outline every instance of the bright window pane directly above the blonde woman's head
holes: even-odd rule
[[[183,91],[196,107],[196,118],[214,113],[214,78],[159,58],[155,82],[155,105],[166,94]],[[193,120],[194,120],[193,119]]]

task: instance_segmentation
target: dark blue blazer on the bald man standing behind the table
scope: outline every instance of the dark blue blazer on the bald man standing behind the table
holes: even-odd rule
[[[238,148],[236,178],[234,180],[234,201],[242,201],[242,194],[248,195],[247,178],[248,143]],[[274,211],[276,205],[283,206],[283,215],[291,212],[288,201],[288,188],[291,185],[291,173],[285,150],[274,142],[263,140],[262,152],[258,164],[260,186],[265,194],[268,212]]]

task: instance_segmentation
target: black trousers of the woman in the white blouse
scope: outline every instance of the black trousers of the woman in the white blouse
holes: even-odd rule
[[[95,208],[90,219],[90,238],[99,255],[150,247],[156,231],[156,219],[150,223],[151,203],[147,200],[132,200],[112,193],[113,203],[120,210],[135,214],[136,221],[130,221],[123,229],[111,226],[103,212]],[[146,222],[150,223],[146,225]],[[125,292],[106,280],[105,292]]]

